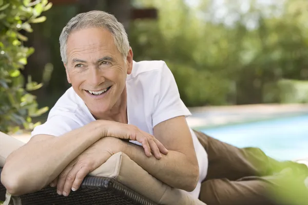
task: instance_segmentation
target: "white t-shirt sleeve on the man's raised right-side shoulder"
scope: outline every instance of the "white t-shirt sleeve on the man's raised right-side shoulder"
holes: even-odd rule
[[[164,63],[159,73],[157,80],[155,80],[156,93],[153,104],[152,124],[155,127],[162,121],[178,117],[191,115],[182,99],[175,80],[174,75]]]

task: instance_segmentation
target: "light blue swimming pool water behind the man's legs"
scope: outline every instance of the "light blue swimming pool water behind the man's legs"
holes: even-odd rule
[[[237,147],[258,147],[278,160],[308,157],[308,115],[250,122],[202,132]]]

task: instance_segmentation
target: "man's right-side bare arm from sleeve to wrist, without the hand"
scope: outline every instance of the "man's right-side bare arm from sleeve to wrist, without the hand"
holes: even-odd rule
[[[126,146],[124,153],[167,185],[193,191],[199,179],[199,165],[184,116],[161,122],[154,128],[154,136],[169,150],[160,160],[146,157],[142,147],[132,144]]]

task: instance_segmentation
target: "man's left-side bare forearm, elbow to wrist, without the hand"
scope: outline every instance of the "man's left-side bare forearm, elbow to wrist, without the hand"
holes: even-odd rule
[[[2,182],[26,192],[43,188],[75,157],[102,138],[104,129],[102,121],[94,121],[59,137],[29,142],[9,155]]]

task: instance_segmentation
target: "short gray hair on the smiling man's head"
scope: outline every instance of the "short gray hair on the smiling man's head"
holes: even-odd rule
[[[107,29],[114,39],[114,44],[122,54],[127,57],[129,42],[124,26],[118,22],[117,18],[104,11],[89,11],[74,16],[63,28],[59,41],[60,52],[63,63],[67,64],[67,39],[70,33],[84,28],[104,28]]]

